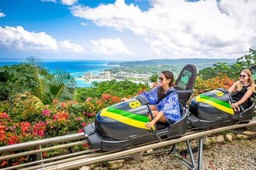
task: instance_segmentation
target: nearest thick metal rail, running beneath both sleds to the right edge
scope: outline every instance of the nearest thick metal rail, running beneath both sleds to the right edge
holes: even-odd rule
[[[100,156],[94,156],[94,157],[90,157],[90,158],[86,157],[86,159],[80,159],[80,158],[76,159],[77,158],[76,157],[76,158],[71,158],[71,159],[76,159],[75,161],[74,160],[71,161],[69,159],[60,160],[60,161],[57,161],[57,162],[61,163],[61,164],[57,164],[57,162],[55,162],[55,164],[57,164],[57,165],[41,168],[39,170],[69,170],[69,169],[81,167],[81,166],[84,166],[84,165],[89,165],[89,164],[93,164],[93,163],[97,163],[97,162],[103,162],[103,161],[107,161],[109,159],[114,159],[114,158],[130,155],[130,154],[141,152],[141,151],[148,150],[148,149],[164,147],[164,146],[171,145],[171,144],[174,144],[174,143],[178,143],[178,142],[198,138],[198,137],[201,137],[201,136],[204,136],[204,135],[209,135],[209,134],[212,134],[212,133],[218,133],[220,131],[227,131],[227,130],[230,130],[230,129],[236,129],[236,128],[241,128],[241,127],[246,127],[246,126],[251,126],[251,125],[256,125],[256,120],[250,121],[247,124],[235,124],[235,125],[216,128],[216,129],[212,129],[212,130],[206,130],[206,131],[202,131],[202,132],[192,133],[192,134],[189,134],[189,135],[182,136],[180,139],[162,141],[162,142],[153,143],[153,144],[149,144],[149,145],[145,145],[145,146],[141,146],[141,147],[135,147],[135,148],[127,149],[127,150],[124,150],[124,151],[118,151],[118,152],[113,151],[114,153],[107,152],[107,154],[100,155]],[[46,166],[46,164],[40,165],[40,166],[44,167],[44,166]],[[29,169],[25,168],[25,169],[22,169],[22,170],[29,170]],[[32,170],[32,169],[30,169],[30,170]]]

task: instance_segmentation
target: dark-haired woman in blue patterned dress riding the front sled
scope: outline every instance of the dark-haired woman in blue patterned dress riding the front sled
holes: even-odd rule
[[[175,90],[173,80],[174,76],[171,71],[162,71],[159,77],[160,84],[150,91],[139,94],[144,96],[149,101],[154,116],[154,119],[152,120],[150,114],[148,114],[150,122],[145,124],[147,128],[150,129],[157,121],[171,124],[172,122],[181,119],[177,93],[171,93],[156,105],[157,100],[160,99],[164,94],[171,90]],[[121,101],[126,100],[129,99],[123,98]]]

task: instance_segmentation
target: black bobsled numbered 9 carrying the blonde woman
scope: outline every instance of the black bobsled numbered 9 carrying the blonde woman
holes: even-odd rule
[[[256,81],[256,65],[250,70]],[[189,104],[188,124],[192,127],[208,129],[234,123],[248,123],[254,115],[255,93],[250,96],[248,107],[241,113],[234,112],[230,106],[229,100],[232,102],[234,94],[229,94],[226,89],[217,88],[194,97]]]

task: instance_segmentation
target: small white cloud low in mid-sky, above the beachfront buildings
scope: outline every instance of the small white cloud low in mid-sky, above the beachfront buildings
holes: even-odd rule
[[[93,51],[96,54],[127,54],[134,55],[124,46],[122,41],[117,39],[100,39],[98,41],[91,40]]]

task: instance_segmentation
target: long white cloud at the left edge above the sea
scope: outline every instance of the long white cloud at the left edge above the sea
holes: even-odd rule
[[[0,47],[4,46],[18,50],[86,52],[80,45],[69,41],[57,42],[56,39],[44,32],[29,32],[21,26],[17,26],[17,28],[0,27]]]

